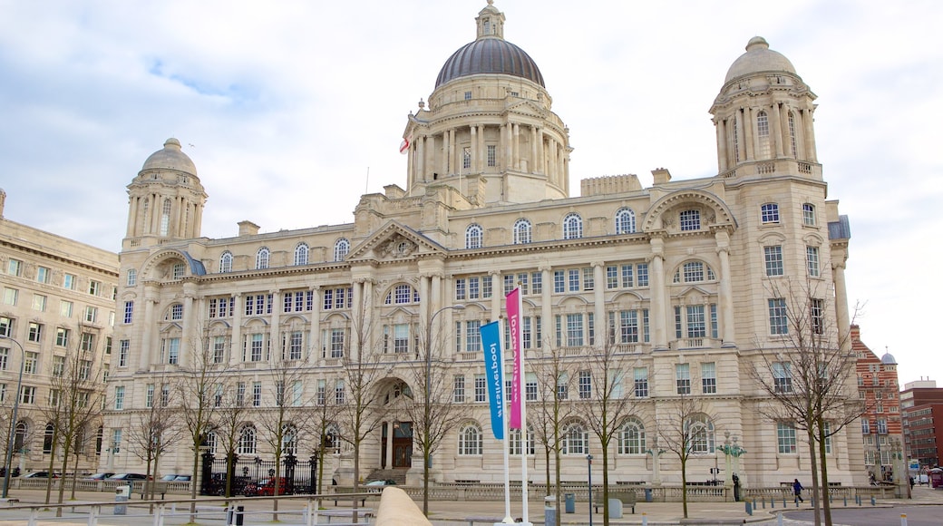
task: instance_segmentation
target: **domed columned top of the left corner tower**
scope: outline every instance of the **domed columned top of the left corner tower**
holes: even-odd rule
[[[207,193],[179,140],[166,140],[163,149],[147,157],[127,193],[125,237],[136,238],[133,244],[200,237]]]

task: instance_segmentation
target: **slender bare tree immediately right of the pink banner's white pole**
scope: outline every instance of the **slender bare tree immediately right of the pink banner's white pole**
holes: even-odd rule
[[[549,342],[544,342],[549,346]],[[527,418],[534,422],[535,441],[543,446],[547,477],[547,495],[554,488],[556,509],[560,507],[560,454],[563,446],[563,426],[573,414],[573,404],[567,396],[571,387],[571,371],[567,368],[562,352],[553,347],[549,355],[538,360],[529,360],[537,376],[538,397],[540,403],[528,407]],[[551,458],[553,458],[553,478],[551,478]],[[554,484],[551,485],[551,481]],[[560,514],[556,515],[556,526],[560,524]]]

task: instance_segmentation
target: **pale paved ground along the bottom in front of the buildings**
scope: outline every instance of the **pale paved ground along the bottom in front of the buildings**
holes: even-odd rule
[[[29,503],[41,503],[45,499],[45,492],[42,490],[15,490],[10,494],[11,498],[18,499],[20,504],[29,504]],[[83,492],[76,494],[76,501],[70,501],[69,503],[80,504],[82,502],[111,502],[114,500],[113,495],[109,493],[91,493]],[[108,505],[103,507],[102,513],[103,516],[99,520],[99,524],[102,525],[113,525],[113,526],[150,526],[153,524],[153,518],[146,516],[147,508],[141,507],[140,498],[135,496],[134,499],[128,501],[129,508],[128,513],[130,514],[127,517],[117,516],[113,517],[112,511],[113,506]],[[262,524],[270,523],[272,520],[272,508],[273,502],[265,498],[256,498],[251,501],[241,502],[246,508],[247,512],[250,512],[251,515],[246,516],[245,523],[248,524]],[[378,502],[368,502],[366,509],[375,511],[375,507]],[[796,509],[811,509],[811,504],[808,500],[800,505],[799,508],[791,501],[787,502],[786,509],[782,507],[782,501],[776,503],[775,508],[769,507],[769,501],[766,504],[766,507],[762,507],[759,502],[757,502],[757,508],[753,510],[753,515],[749,515],[746,512],[746,502],[688,502],[687,511],[688,519],[685,520],[685,524],[734,524],[734,523],[743,523],[749,522],[752,524],[758,525],[772,525],[776,524],[776,514],[783,511],[795,511]],[[894,505],[943,505],[943,488],[941,489],[931,489],[928,486],[917,486],[913,491],[913,499],[911,500],[885,500],[878,501],[877,505],[882,507],[894,506]],[[15,505],[15,503],[11,503]],[[219,502],[207,502],[207,505],[219,505]],[[304,507],[305,501],[280,501],[279,510],[282,512],[288,512],[292,510],[300,510]],[[349,505],[349,504],[348,504]],[[422,501],[417,502],[417,505],[422,506]],[[849,507],[857,507],[853,501],[848,503]],[[12,526],[25,524],[25,514],[19,513],[13,515],[12,510],[5,510],[4,507],[6,504],[0,504],[0,525],[2,526]],[[345,508],[347,507],[344,502],[339,502],[339,506],[334,506],[334,501],[324,501],[324,506],[326,509],[335,509],[335,508]],[[843,507],[842,501],[833,501],[832,506],[834,508]],[[865,501],[862,503],[861,507],[869,507],[870,502]],[[430,521],[435,526],[490,526],[494,522],[500,521],[505,516],[505,502],[504,501],[430,501]],[[185,510],[184,505],[178,505],[177,509],[181,512]],[[561,524],[566,524],[568,526],[576,525],[587,525],[589,524],[589,506],[587,502],[575,502],[574,513],[568,514],[565,513],[565,510],[560,510],[560,521]],[[536,526],[542,526],[544,523],[544,509],[541,501],[535,500],[529,503],[528,507],[528,518],[530,522]],[[602,512],[602,509],[600,510]],[[132,517],[133,515],[141,515],[141,517]],[[512,501],[511,502],[511,517],[521,518],[521,502]],[[636,505],[636,513],[632,514],[631,509],[623,510],[622,518],[611,518],[609,523],[612,525],[636,525],[642,524],[643,519],[647,521],[647,524],[651,526],[663,526],[663,525],[673,525],[673,524],[682,524],[684,514],[682,510],[681,502],[639,502]],[[291,524],[302,523],[298,515],[283,514],[280,519],[282,524],[286,526]],[[335,522],[338,519],[334,520]],[[179,519],[168,520],[167,524],[182,524],[186,522],[185,518],[181,517]],[[326,522],[326,520],[323,520]],[[78,525],[78,524],[87,524],[88,519],[86,518],[73,518],[67,520],[57,520],[57,521],[41,521],[41,526],[62,526],[62,525]],[[220,525],[223,521],[220,518],[214,519],[201,519],[199,521],[201,524],[213,524]],[[603,514],[592,514],[592,523],[593,525],[602,525],[603,524]],[[792,521],[784,520],[783,522],[786,525],[800,525],[800,524],[809,524],[801,521]]]

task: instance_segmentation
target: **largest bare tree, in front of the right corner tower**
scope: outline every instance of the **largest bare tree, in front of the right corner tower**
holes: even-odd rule
[[[834,306],[824,284],[806,280],[770,283],[770,319],[784,344],[762,350],[751,370],[753,380],[769,394],[769,405],[760,412],[767,419],[804,431],[809,447],[815,521],[832,525],[828,502],[826,441],[858,419],[865,407],[854,383],[856,356],[850,352],[848,334],[839,334],[826,315]],[[775,309],[775,310],[774,310]]]

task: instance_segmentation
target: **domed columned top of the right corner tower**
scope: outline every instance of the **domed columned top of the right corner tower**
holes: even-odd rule
[[[816,95],[782,54],[753,37],[724,79],[710,113],[724,176],[798,173],[821,179],[813,131]]]

